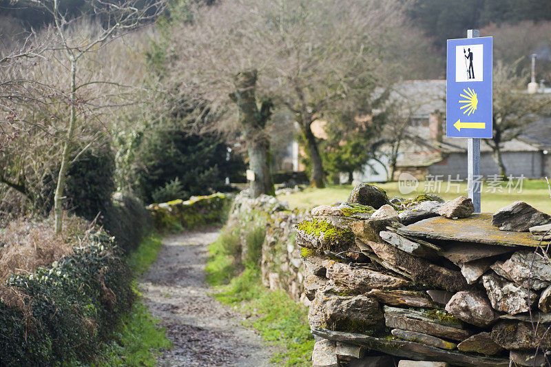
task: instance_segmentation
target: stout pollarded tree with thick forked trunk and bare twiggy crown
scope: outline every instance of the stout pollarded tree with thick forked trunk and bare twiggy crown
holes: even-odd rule
[[[269,172],[273,103],[264,74],[264,67],[273,61],[273,50],[259,37],[262,19],[253,12],[261,9],[260,3],[225,1],[177,7],[165,33],[167,90],[179,94],[169,98],[189,104],[176,103],[176,109],[195,109],[198,118],[192,131],[214,131],[227,137],[240,134],[255,176],[250,185],[253,197],[273,194]]]

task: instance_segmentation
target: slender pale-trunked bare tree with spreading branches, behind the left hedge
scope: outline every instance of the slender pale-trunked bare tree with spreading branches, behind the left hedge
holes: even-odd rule
[[[43,42],[40,59],[36,51],[21,55],[12,52],[12,56],[3,58],[17,62],[2,70],[6,73],[0,87],[6,93],[0,96],[0,107],[8,113],[5,127],[10,127],[12,134],[30,136],[37,148],[42,144],[42,154],[50,151],[49,156],[58,160],[53,167],[59,167],[54,191],[55,227],[59,233],[67,170],[102,135],[101,128],[107,127],[102,118],[105,112],[136,102],[132,78],[125,78],[134,71],[132,65],[127,59],[109,60],[106,46],[112,47],[127,32],[154,21],[163,3],[100,1],[94,3],[94,20],[87,16],[66,18],[58,0],[37,3],[52,14],[54,24],[32,34]],[[31,56],[35,60],[30,60]],[[123,73],[116,70],[118,64],[126,68]],[[21,163],[28,172],[34,160],[29,155],[23,157],[30,158]],[[23,169],[16,176],[17,187],[10,186],[28,194],[28,188],[19,185],[25,176]]]

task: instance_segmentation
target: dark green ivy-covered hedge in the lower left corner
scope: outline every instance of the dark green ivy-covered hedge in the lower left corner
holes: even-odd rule
[[[90,360],[132,304],[129,271],[105,232],[30,275],[12,275],[0,302],[1,366]]]

